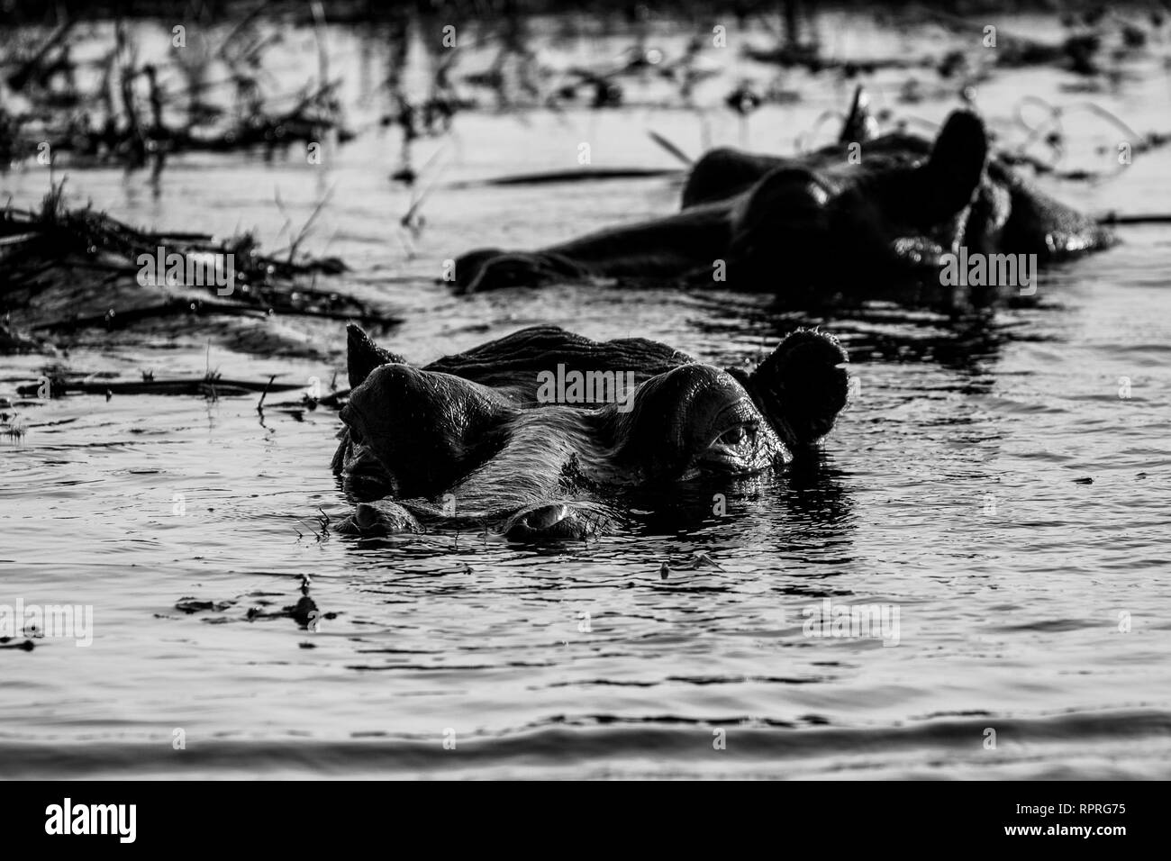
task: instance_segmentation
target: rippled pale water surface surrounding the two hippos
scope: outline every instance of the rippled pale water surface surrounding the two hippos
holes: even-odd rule
[[[879,49],[939,39],[831,25],[843,43]],[[358,36],[330,40],[334,64],[356,68]],[[593,45],[617,53],[629,37]],[[576,49],[590,56],[589,43]],[[283,50],[289,68],[304,64],[311,32],[292,32]],[[1152,52],[1114,90],[1070,95],[1056,70],[1000,73],[977,104],[1011,130],[1023,93],[1091,98],[1139,131],[1169,131],[1166,43]],[[740,74],[762,74],[718,59],[728,69],[697,101],[719,104]],[[378,108],[361,77],[347,90],[358,125]],[[876,101],[933,122],[953,107],[896,104],[905,77],[879,74]],[[792,151],[852,86],[801,73],[789,84],[803,101],[746,128],[713,109],[710,143]],[[389,180],[398,141],[378,129],[320,166],[200,156],[170,163],[157,189],[116,170],[69,171],[68,187],[131,223],[255,227],[269,247],[333,189],[307,246],[351,265],[338,289],[404,319],[382,342],[417,362],[536,322],[652,337],[721,364],[758,356],[794,324],[765,296],[556,287],[465,299],[434,282],[444,259],[473,247],[536,247],[673,209],[665,179],[440,187],[566,169],[581,142],[596,166],[671,166],[646,129],[701,150],[694,114],[655,107],[651,83],[631,91],[645,97],[622,110],[458,117],[426,226],[408,240],[413,259],[398,228],[411,193]],[[1117,136],[1087,116],[1067,131],[1070,158]],[[417,164],[439,146],[424,142]],[[1158,150],[1109,183],[1046,187],[1091,211],[1157,212],[1169,179]],[[0,189],[27,205],[47,177],[27,166]],[[1049,271],[1039,306],[982,326],[881,307],[823,321],[858,382],[816,464],[658,500],[581,545],[319,540],[319,507],[348,511],[329,471],[330,410],[261,421],[255,397],[145,396],[18,408],[26,433],[0,443],[0,602],[91,604],[94,640],[0,649],[0,774],[1166,778],[1171,231],[1122,237]],[[231,350],[184,326],[114,346],[91,333],[56,361],[123,378],[208,364],[248,380],[344,377],[341,323],[271,323],[302,339],[301,357]],[[6,357],[0,395],[46,361]],[[714,492],[727,496],[723,515]],[[719,567],[691,567],[698,552]],[[302,589],[326,614],[317,631],[282,615]],[[827,597],[897,608],[897,645],[804,636]]]

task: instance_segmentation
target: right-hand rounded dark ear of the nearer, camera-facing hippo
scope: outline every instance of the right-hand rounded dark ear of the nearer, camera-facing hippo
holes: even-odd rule
[[[735,374],[789,447],[817,442],[845,406],[845,350],[830,335],[789,334],[752,374]]]

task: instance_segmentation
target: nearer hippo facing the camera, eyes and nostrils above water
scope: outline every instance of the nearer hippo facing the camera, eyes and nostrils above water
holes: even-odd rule
[[[726,484],[809,452],[845,406],[847,361],[813,329],[724,370],[645,339],[537,326],[417,368],[350,324],[333,470],[356,507],[335,528],[598,534],[624,491]],[[556,396],[550,383],[574,378],[619,384]]]

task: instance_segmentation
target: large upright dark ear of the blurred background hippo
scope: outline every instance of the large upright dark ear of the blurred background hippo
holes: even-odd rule
[[[925,221],[946,220],[967,206],[987,160],[984,123],[972,111],[953,111],[936,138],[931,157],[918,171]]]

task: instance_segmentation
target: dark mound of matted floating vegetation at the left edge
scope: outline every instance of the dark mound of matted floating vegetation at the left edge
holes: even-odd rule
[[[185,315],[397,322],[319,286],[320,276],[347,266],[299,251],[308,224],[288,253],[275,257],[251,233],[217,240],[145,231],[91,206],[69,207],[62,186],[53,186],[40,210],[0,211],[0,313],[8,315],[0,348],[34,349],[37,337]]]

